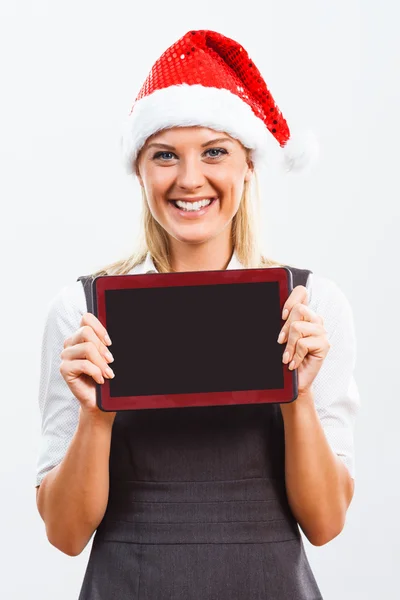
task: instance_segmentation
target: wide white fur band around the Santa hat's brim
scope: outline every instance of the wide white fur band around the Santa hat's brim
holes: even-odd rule
[[[121,147],[128,173],[148,137],[170,127],[209,127],[224,131],[253,150],[257,167],[269,154],[272,144],[279,144],[245,100],[227,89],[188,85],[159,89],[136,102],[126,120]]]

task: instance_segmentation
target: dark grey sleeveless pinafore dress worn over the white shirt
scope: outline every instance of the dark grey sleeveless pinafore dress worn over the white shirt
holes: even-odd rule
[[[286,495],[279,404],[119,411],[109,468],[78,600],[322,599]]]

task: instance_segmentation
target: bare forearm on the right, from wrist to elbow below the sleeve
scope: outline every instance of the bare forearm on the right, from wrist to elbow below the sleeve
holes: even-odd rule
[[[354,480],[331,450],[312,393],[281,404],[288,500],[308,540],[326,544],[342,531]]]

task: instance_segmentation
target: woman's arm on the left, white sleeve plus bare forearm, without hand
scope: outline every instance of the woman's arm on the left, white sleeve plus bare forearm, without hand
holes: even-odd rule
[[[50,303],[39,386],[36,502],[50,543],[71,556],[86,546],[107,505],[113,425],[109,413],[83,409],[60,374],[64,342],[78,330],[85,311],[80,282],[63,288]]]

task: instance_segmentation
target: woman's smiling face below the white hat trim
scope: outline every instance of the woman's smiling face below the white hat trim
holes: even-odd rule
[[[136,174],[151,214],[172,245],[174,240],[204,244],[218,237],[226,243],[252,167],[246,149],[228,134],[174,127],[147,139]]]

